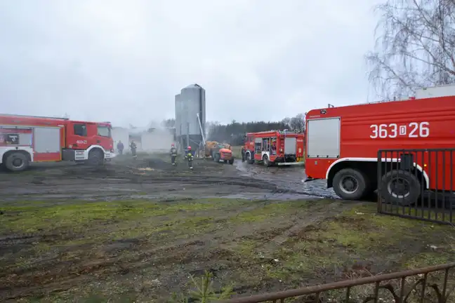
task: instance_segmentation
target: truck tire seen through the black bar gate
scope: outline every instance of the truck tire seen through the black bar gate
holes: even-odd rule
[[[394,186],[398,180],[402,183]],[[390,170],[381,178],[381,196],[386,203],[410,206],[418,201],[420,193],[421,182],[407,170]]]

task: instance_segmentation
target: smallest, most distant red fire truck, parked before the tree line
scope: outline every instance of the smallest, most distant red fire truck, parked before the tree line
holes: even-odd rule
[[[264,166],[301,165],[305,135],[287,130],[268,130],[246,133],[244,149],[248,163],[262,162]]]

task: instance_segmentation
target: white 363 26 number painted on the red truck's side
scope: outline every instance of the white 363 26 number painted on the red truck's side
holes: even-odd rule
[[[411,122],[408,125],[398,126],[397,123],[390,124],[371,124],[373,134],[371,139],[376,138],[395,138],[398,135],[407,137],[428,137],[430,135],[429,122]],[[409,134],[407,128],[409,127]]]

